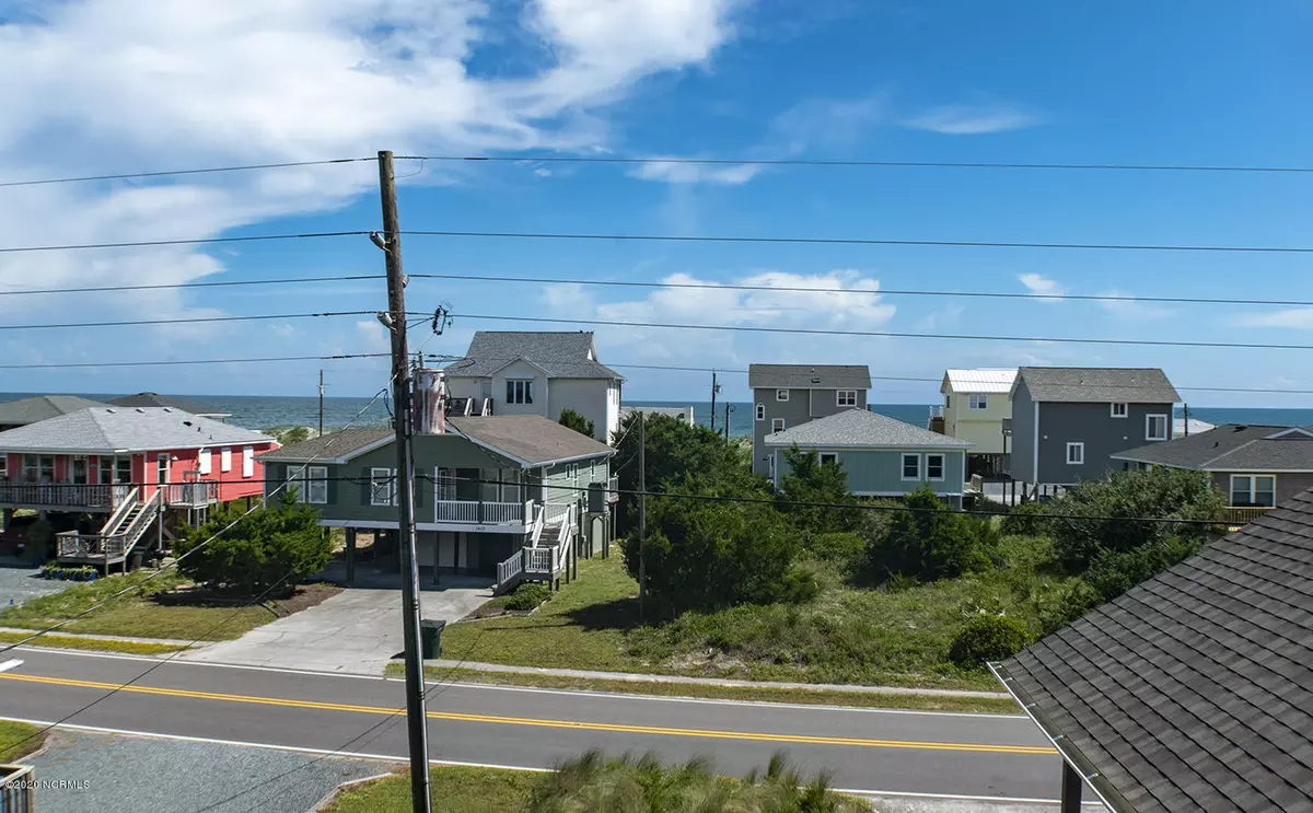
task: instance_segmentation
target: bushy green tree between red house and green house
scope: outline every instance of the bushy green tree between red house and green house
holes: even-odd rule
[[[232,528],[225,531],[230,524]],[[332,541],[319,527],[319,511],[295,502],[291,491],[249,514],[223,506],[173,549],[181,560],[179,570],[193,582],[243,595],[290,592],[332,558]]]

